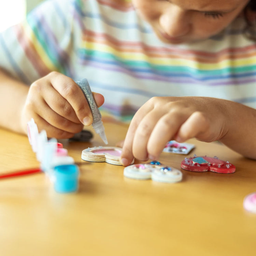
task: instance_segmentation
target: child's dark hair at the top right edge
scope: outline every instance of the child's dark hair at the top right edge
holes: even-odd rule
[[[246,27],[244,34],[247,38],[256,41],[256,0],[251,0],[244,9]]]

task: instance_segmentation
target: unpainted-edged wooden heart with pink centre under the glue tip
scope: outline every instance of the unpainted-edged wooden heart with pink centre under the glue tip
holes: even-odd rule
[[[120,147],[88,147],[82,151],[81,158],[89,162],[107,162],[111,163],[112,165],[122,165],[119,160],[121,153],[122,148]],[[132,163],[134,163],[134,159]]]

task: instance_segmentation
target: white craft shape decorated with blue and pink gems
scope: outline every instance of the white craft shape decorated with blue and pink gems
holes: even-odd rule
[[[162,165],[158,161],[139,163],[124,168],[124,176],[136,180],[149,180],[175,183],[182,180],[181,171]]]

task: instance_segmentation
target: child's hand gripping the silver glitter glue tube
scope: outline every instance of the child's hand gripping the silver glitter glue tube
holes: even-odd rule
[[[104,98],[94,93],[96,104],[101,106]],[[51,72],[35,81],[29,89],[22,111],[22,127],[34,118],[39,131],[57,139],[71,138],[93,122],[87,100],[80,87],[70,78]]]

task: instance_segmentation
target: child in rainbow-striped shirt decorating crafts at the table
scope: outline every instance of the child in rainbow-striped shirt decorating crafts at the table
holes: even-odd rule
[[[193,137],[256,159],[255,2],[45,1],[0,35],[0,125],[25,133],[33,117],[72,137],[92,122],[74,82],[86,77],[104,115],[138,110],[125,166]]]

